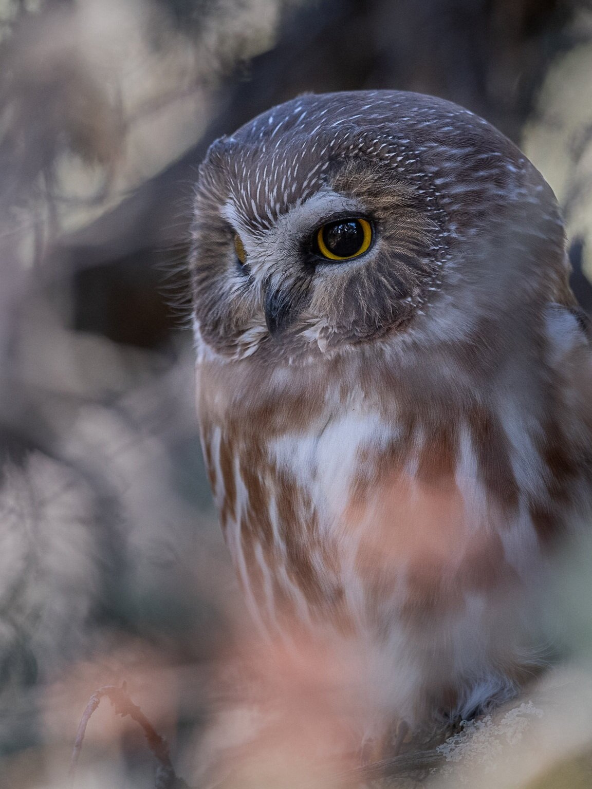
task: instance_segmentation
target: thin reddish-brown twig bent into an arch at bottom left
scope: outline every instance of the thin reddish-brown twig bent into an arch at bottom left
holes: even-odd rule
[[[148,742],[148,748],[152,751],[158,765],[156,769],[155,789],[184,789],[184,787],[187,787],[185,781],[179,779],[174,772],[173,765],[170,762],[169,747],[166,739],[158,734],[148,718],[144,715],[144,712],[141,711],[140,707],[134,704],[129,698],[126,690],[126,683],[124,682],[120,688],[114,685],[106,685],[99,688],[99,690],[96,690],[88,700],[81,722],[78,725],[76,739],[74,740],[72,761],[70,762],[68,773],[70,789],[74,787],[74,776],[76,774],[78,760],[81,757],[82,743],[84,742],[88,721],[91,719],[92,713],[95,712],[96,708],[99,706],[99,702],[103,696],[109,698],[114,705],[117,715],[121,715],[122,717],[129,715],[129,717],[135,720],[144,731],[146,742]],[[187,789],[189,789],[189,787],[187,787]]]

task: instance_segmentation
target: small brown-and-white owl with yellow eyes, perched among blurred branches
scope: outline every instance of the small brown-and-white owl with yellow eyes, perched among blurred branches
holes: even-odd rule
[[[357,645],[410,727],[511,697],[592,493],[549,185],[444,100],[303,95],[212,144],[194,211],[202,442],[253,618]]]

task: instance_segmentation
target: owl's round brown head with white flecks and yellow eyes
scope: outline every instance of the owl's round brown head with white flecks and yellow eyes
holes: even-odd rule
[[[298,363],[534,320],[567,289],[553,193],[467,110],[304,95],[216,140],[190,257],[198,343]]]

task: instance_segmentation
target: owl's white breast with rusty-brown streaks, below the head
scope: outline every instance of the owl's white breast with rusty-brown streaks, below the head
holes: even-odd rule
[[[407,720],[444,695],[466,711],[508,693],[542,555],[495,413],[422,419],[349,394],[272,435],[244,419],[203,426],[262,630],[297,619],[355,638]]]

